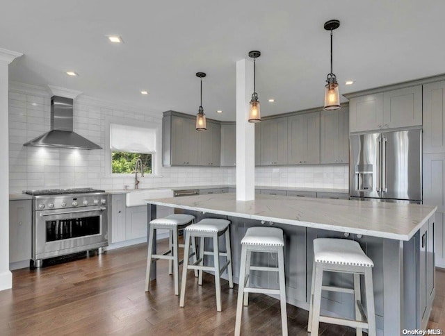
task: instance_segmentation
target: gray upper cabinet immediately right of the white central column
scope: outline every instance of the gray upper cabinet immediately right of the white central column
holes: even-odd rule
[[[259,165],[287,165],[287,117],[259,124]]]

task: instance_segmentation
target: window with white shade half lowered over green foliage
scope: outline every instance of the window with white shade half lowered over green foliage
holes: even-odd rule
[[[110,124],[111,174],[133,174],[136,160],[144,174],[153,174],[156,129]]]

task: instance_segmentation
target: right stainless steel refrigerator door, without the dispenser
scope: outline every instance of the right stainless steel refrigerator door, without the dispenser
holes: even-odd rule
[[[420,201],[421,180],[421,130],[382,133],[381,197]]]

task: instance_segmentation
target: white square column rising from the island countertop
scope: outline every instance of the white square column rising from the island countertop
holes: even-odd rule
[[[255,128],[248,122],[253,93],[253,62],[236,62],[236,199],[255,199]]]

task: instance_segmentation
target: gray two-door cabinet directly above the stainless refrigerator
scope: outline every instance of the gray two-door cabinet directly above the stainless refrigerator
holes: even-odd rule
[[[422,85],[353,97],[350,132],[421,126]]]

